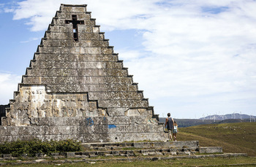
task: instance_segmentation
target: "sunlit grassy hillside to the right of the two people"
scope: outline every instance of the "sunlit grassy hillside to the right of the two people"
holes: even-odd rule
[[[256,157],[256,123],[224,123],[178,128],[179,141],[197,140],[200,146],[221,146],[223,152]]]

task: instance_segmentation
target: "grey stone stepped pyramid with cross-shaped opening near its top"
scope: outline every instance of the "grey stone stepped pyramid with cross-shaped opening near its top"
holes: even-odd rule
[[[69,4],[61,4],[45,31],[0,133],[0,141],[167,139],[86,5]]]

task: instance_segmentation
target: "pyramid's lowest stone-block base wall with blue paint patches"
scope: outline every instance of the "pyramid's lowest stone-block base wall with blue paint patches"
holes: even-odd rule
[[[148,121],[148,123],[147,123]],[[44,117],[31,119],[31,126],[0,126],[0,141],[17,139],[88,142],[162,141],[167,133],[146,117]]]

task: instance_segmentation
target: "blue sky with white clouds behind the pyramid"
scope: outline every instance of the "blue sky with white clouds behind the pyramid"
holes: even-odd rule
[[[162,117],[256,114],[256,1],[1,0],[0,104],[8,104],[60,4],[88,4]]]

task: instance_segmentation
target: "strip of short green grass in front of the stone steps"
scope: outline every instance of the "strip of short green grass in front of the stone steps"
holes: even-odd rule
[[[91,161],[92,162],[92,161]],[[96,161],[94,163],[37,163],[37,164],[24,164],[18,166],[33,166],[33,167],[42,167],[42,166],[56,166],[56,164],[61,164],[61,166],[109,166],[109,167],[129,167],[129,166],[147,166],[147,167],[156,167],[156,166],[227,166],[232,164],[247,164],[244,166],[255,166],[256,158],[255,157],[237,157],[237,158],[202,158],[202,159],[176,159],[176,160],[132,160],[132,161]],[[252,164],[252,165],[249,165]]]

